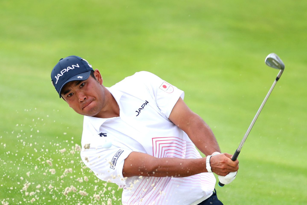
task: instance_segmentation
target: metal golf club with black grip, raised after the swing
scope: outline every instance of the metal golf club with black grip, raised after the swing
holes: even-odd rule
[[[269,55],[266,57],[265,63],[266,63],[267,66],[270,66],[270,67],[275,68],[275,69],[279,69],[279,73],[277,74],[277,77],[276,77],[276,79],[275,79],[273,85],[271,86],[271,88],[270,88],[268,94],[266,94],[266,97],[264,98],[264,100],[263,100],[263,102],[262,102],[262,104],[261,104],[259,110],[257,111],[257,113],[256,113],[256,115],[255,115],[253,121],[251,122],[251,125],[248,127],[247,132],[245,133],[245,135],[244,135],[244,137],[243,137],[243,139],[242,139],[242,141],[241,141],[241,143],[240,143],[238,149],[235,151],[235,154],[232,156],[232,158],[231,158],[232,161],[235,161],[235,160],[238,158],[238,156],[239,156],[239,154],[240,154],[240,151],[241,151],[241,148],[243,147],[243,144],[244,144],[245,140],[247,139],[247,136],[248,136],[248,134],[250,133],[251,128],[254,126],[254,124],[255,124],[255,122],[256,122],[256,120],[257,120],[257,118],[258,118],[258,115],[260,114],[260,112],[261,112],[261,110],[262,110],[264,104],[266,103],[266,100],[269,98],[269,96],[270,96],[270,94],[271,94],[271,92],[272,92],[272,90],[273,90],[275,84],[277,83],[277,81],[279,80],[279,78],[280,78],[281,75],[282,75],[282,72],[283,72],[284,69],[285,69],[285,64],[284,64],[284,63],[282,62],[282,60],[278,57],[278,55],[276,55],[276,54],[274,54],[274,53],[271,53],[271,54],[269,54]],[[221,183],[221,182],[219,182],[219,186],[220,186],[220,187],[223,187],[224,184]]]

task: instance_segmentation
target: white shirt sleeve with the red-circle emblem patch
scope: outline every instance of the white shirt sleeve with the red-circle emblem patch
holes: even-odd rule
[[[146,84],[150,93],[156,101],[157,107],[161,113],[169,118],[173,107],[178,101],[179,97],[184,99],[184,91],[178,89],[176,86],[162,80],[157,75],[147,71],[141,71],[137,73],[139,77]]]

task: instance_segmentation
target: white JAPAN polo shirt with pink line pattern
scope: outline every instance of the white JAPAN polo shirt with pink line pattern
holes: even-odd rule
[[[81,159],[86,166],[99,179],[123,188],[123,204],[191,204],[209,197],[216,183],[212,173],[183,178],[122,176],[124,160],[132,151],[157,158],[201,158],[188,135],[168,119],[184,92],[146,71],[107,89],[119,105],[120,116],[84,116]],[[108,149],[102,147],[105,137],[112,141]]]

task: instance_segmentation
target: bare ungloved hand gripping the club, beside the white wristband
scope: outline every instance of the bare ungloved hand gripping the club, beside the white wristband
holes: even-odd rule
[[[239,169],[238,159],[235,161],[231,160],[232,155],[223,153],[214,155],[210,158],[210,166],[212,172],[219,176],[226,176],[230,172],[236,172]]]

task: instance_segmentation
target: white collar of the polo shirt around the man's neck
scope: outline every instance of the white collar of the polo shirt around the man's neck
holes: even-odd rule
[[[119,109],[121,108],[121,105],[120,105],[120,98],[122,97],[123,93],[119,90],[115,90],[114,88],[112,87],[106,87],[110,93],[113,95],[113,97],[115,98],[117,104],[119,105]],[[84,120],[83,120],[83,123],[90,123],[96,131],[99,132],[99,129],[100,129],[100,126],[108,121],[108,120],[111,120],[111,119],[115,119],[117,117],[113,117],[113,118],[96,118],[96,117],[91,117],[91,116],[84,116]]]

